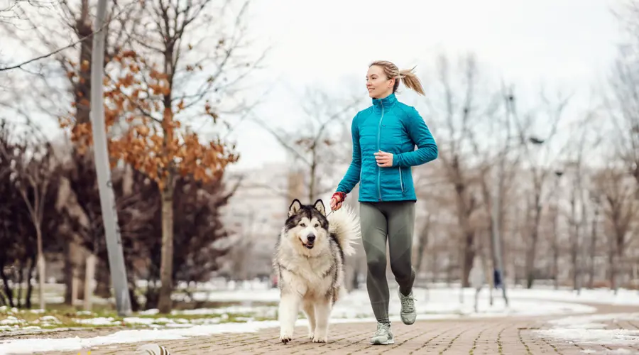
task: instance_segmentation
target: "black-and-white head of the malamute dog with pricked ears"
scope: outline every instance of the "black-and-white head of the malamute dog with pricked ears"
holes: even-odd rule
[[[285,229],[291,242],[305,249],[327,243],[328,219],[324,202],[317,200],[314,204],[302,204],[300,200],[293,200],[288,207]]]

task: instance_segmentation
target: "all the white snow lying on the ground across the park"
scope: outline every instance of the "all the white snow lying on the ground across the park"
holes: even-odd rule
[[[198,285],[200,286],[200,285]],[[260,329],[278,327],[275,321],[279,291],[270,288],[268,283],[244,283],[232,285],[231,290],[219,290],[216,287],[198,287],[192,293],[193,300],[212,302],[232,302],[229,307],[206,308],[196,310],[173,311],[172,317],[127,317],[125,323],[146,324],[151,329],[125,330],[104,337],[80,339],[17,339],[0,342],[0,354],[6,352],[29,354],[33,351],[75,351],[92,346],[108,346],[109,344],[157,341],[165,339],[183,339],[200,335],[219,334],[222,332],[257,332]],[[216,290],[217,289],[217,290]],[[463,301],[460,302],[460,292]],[[397,290],[391,288],[390,315],[393,322],[400,322],[400,303]],[[607,342],[608,344],[639,343],[639,332],[623,329],[605,329],[606,324],[621,317],[631,317],[639,321],[639,313],[631,315],[584,315],[594,312],[594,307],[581,305],[579,302],[611,305],[638,305],[639,293],[619,290],[614,295],[610,290],[582,290],[579,295],[572,290],[553,290],[552,288],[508,288],[509,307],[501,298],[501,290],[493,290],[494,302],[488,301],[488,290],[484,288],[479,296],[478,312],[474,312],[474,290],[447,288],[432,285],[430,289],[415,289],[418,320],[454,319],[461,317],[508,317],[537,315],[570,315],[552,323],[552,329],[539,331],[541,337],[554,337],[579,342]],[[175,295],[175,298],[184,297]],[[266,305],[253,305],[263,302]],[[268,305],[268,303],[272,303]],[[158,310],[140,312],[141,316],[156,315]],[[579,316],[575,314],[581,314]],[[185,318],[180,318],[180,315]],[[188,319],[192,316],[202,316]],[[241,317],[240,317],[241,316]],[[234,322],[228,322],[233,317]],[[44,318],[44,317],[43,317]],[[626,318],[623,318],[624,320]],[[261,319],[261,320],[256,320]],[[266,319],[266,320],[264,320]],[[628,319],[630,320],[630,319]],[[55,323],[53,319],[43,322]],[[116,324],[112,318],[95,317],[79,322],[87,324]],[[373,312],[366,290],[356,290],[340,300],[332,311],[332,322],[371,322],[374,323]],[[1,327],[18,327],[19,318],[9,316],[1,321]],[[304,326],[304,317],[297,320],[297,325]]]

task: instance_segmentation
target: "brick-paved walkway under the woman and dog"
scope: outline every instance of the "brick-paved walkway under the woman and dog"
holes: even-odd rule
[[[598,307],[598,313],[637,312],[637,307]],[[563,316],[522,318],[493,317],[474,320],[428,320],[411,326],[393,323],[395,344],[371,346],[375,324],[332,324],[329,342],[313,344],[305,339],[306,327],[295,329],[295,339],[289,344],[278,340],[278,329],[265,329],[258,333],[214,334],[185,340],[158,341],[171,354],[639,354],[639,346],[613,346],[606,344],[579,344],[544,339],[536,329],[547,329],[545,320]],[[614,322],[608,329],[637,330],[639,324]],[[143,343],[111,344],[92,349],[91,355],[135,354]],[[623,349],[623,350],[619,350]],[[48,353],[54,354],[54,353]],[[55,353],[60,354],[60,353]],[[77,355],[77,351],[62,353]],[[82,351],[80,354],[87,354]]]

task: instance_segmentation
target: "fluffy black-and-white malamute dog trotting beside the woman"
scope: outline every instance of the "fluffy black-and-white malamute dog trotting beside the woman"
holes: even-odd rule
[[[280,288],[280,340],[293,339],[300,310],[309,324],[309,339],[327,342],[332,306],[344,290],[344,255],[360,237],[359,219],[347,206],[327,217],[322,200],[293,200],[275,244],[273,268]]]

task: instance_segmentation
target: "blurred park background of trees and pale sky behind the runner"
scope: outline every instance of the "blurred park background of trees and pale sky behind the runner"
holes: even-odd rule
[[[114,309],[99,84],[133,311],[272,306],[290,200],[329,203],[373,60],[417,66],[399,99],[439,145],[413,169],[422,312],[482,279],[501,302],[495,270],[513,299],[639,297],[639,1],[107,2],[95,63],[97,1],[0,0],[5,309]],[[345,317],[372,315],[361,245],[346,275]]]

